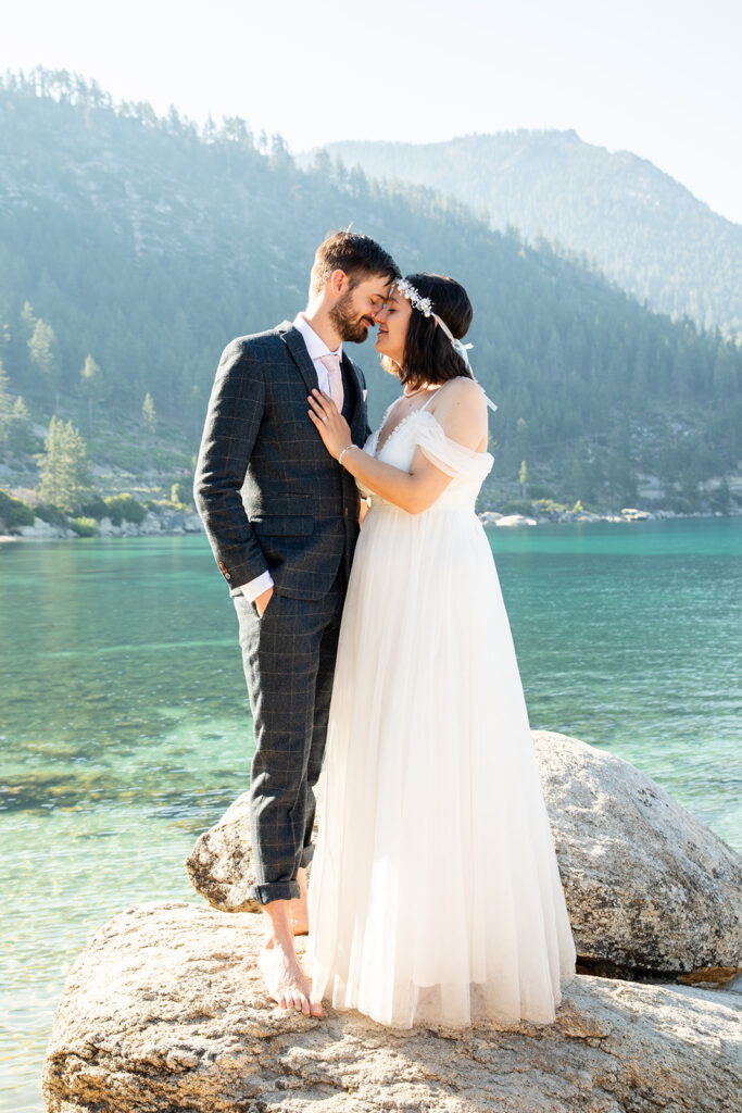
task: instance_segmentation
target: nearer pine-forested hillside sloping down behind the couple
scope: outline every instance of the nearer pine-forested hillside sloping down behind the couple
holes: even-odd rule
[[[605,505],[632,502],[652,474],[669,504],[692,506],[699,482],[735,472],[742,353],[720,331],[653,314],[432,189],[326,154],[300,169],[280,137],[241,119],[158,118],[66,72],[0,88],[8,405],[22,396],[38,422],[89,425],[95,461],[149,395],[159,459],[168,436],[195,452],[224,345],[303,308],[317,243],[352,223],[404,272],[453,274],[469,290],[473,364],[498,404],[493,482],[515,482],[526,461],[560,496]],[[394,383],[370,345],[353,355],[378,417]]]

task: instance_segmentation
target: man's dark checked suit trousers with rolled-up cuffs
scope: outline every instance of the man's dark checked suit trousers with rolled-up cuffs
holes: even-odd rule
[[[234,597],[255,728],[250,833],[259,904],[299,896],[314,854],[314,787],[321,771],[346,582],[340,561],[318,600],[274,591],[263,618]]]

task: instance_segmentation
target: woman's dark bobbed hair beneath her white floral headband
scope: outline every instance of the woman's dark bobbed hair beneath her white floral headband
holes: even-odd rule
[[[474,309],[468,294],[454,278],[446,275],[407,275],[421,297],[429,297],[433,312],[445,321],[457,341],[466,336]],[[472,372],[434,317],[413,308],[405,339],[402,366],[385,356],[385,371],[398,375],[403,386],[416,390],[423,383],[446,383],[449,378],[472,378]]]

